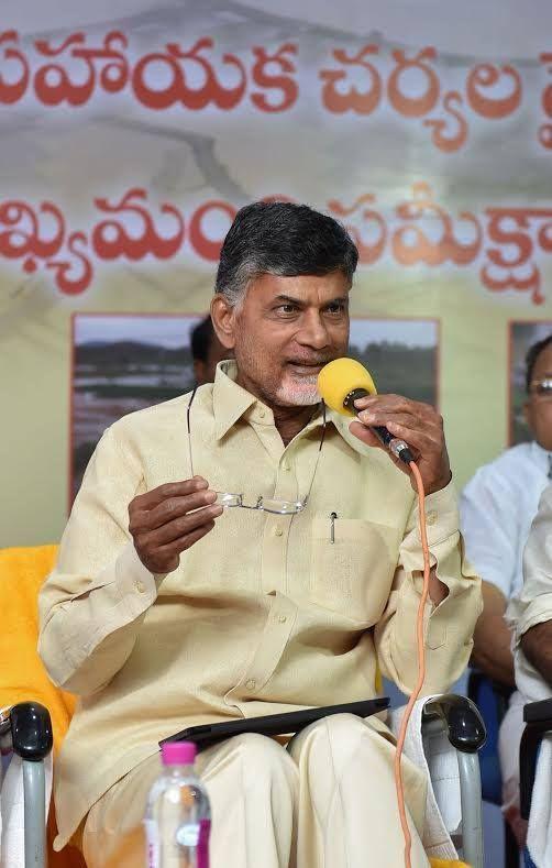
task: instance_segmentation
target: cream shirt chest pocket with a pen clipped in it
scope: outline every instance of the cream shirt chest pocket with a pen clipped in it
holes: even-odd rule
[[[310,598],[352,620],[376,624],[385,609],[398,562],[397,528],[363,518],[312,521]]]

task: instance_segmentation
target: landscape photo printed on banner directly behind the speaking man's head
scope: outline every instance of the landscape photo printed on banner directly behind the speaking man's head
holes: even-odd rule
[[[70,503],[101,435],[128,413],[195,385],[196,315],[77,314],[73,320]],[[439,404],[437,320],[351,320],[350,354],[379,392]]]

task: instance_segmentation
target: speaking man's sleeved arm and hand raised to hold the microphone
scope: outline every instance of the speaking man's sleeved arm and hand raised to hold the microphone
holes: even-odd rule
[[[422,477],[431,559],[422,693],[441,693],[467,664],[482,609],[481,580],[463,563],[457,499],[450,482],[443,422],[433,407],[397,395],[361,398],[355,406],[361,413],[358,421],[351,424],[351,432],[363,442],[377,446],[374,433],[365,426],[386,426],[408,443]],[[410,473],[398,459],[395,463]],[[416,626],[423,575],[417,502],[398,554],[394,585],[376,625],[374,641],[383,674],[410,693],[418,680]]]

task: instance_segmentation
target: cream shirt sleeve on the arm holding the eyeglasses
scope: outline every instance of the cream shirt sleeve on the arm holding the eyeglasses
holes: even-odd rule
[[[142,564],[128,530],[128,504],[143,491],[140,465],[113,426],[90,460],[38,597],[38,653],[52,680],[73,693],[109,683],[156,598],[159,576]]]

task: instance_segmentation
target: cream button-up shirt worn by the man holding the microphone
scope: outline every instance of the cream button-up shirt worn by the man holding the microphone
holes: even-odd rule
[[[195,472],[249,503],[261,494],[300,499],[321,416],[284,447],[272,410],[234,376],[222,363],[214,385],[196,395]],[[187,725],[368,699],[377,663],[406,692],[416,681],[423,564],[413,491],[342,417],[329,415],[305,512],[228,509],[174,572],[145,569],[128,506],[190,476],[188,402],[106,431],[40,596],[40,653],[52,679],[80,695],[57,763],[58,845],[159,739]],[[427,517],[432,560],[450,589],[427,612],[424,692],[434,693],[466,666],[481,589],[462,564],[452,486],[427,498]]]

